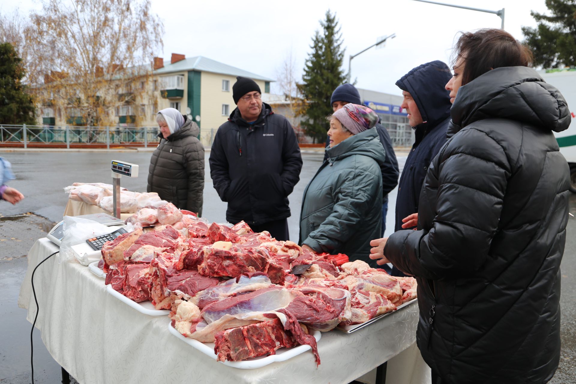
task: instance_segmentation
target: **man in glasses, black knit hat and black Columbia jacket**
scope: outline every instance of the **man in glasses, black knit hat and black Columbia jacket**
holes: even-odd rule
[[[209,159],[214,188],[228,201],[226,220],[288,240],[287,196],[302,169],[296,135],[286,117],[262,102],[255,81],[238,76],[232,92],[237,108],[218,128]]]

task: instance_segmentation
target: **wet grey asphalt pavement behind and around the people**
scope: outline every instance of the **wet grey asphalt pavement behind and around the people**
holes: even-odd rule
[[[110,161],[127,161],[139,165],[139,177],[122,177],[122,187],[145,192],[150,152],[2,152],[12,162],[17,180],[9,183],[25,196],[16,206],[0,201],[0,383],[29,383],[30,330],[26,311],[18,308],[18,292],[28,263],[26,254],[37,238],[46,236],[54,223],[62,220],[67,203],[63,188],[74,182],[112,183]],[[323,154],[303,153],[304,167],[300,182],[289,196],[292,216],[288,219],[290,239],[298,241],[298,218],[304,188],[322,162]],[[220,201],[210,179],[209,153],[206,153],[204,216],[215,222],[226,221],[226,203]],[[400,168],[406,157],[399,155]],[[386,233],[393,230],[393,207],[396,189],[389,195]],[[576,195],[570,197],[570,211],[576,215]],[[570,218],[562,260],[562,356],[556,375],[550,383],[576,384],[576,218]],[[34,336],[36,383],[59,383],[61,371],[44,347],[38,330]],[[75,381],[73,381],[74,383]]]

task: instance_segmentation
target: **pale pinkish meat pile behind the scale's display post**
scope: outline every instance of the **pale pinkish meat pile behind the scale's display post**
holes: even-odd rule
[[[84,201],[86,204],[98,206],[104,211],[113,211],[112,185],[105,183],[74,183],[64,188],[69,194],[68,198],[75,201]],[[130,192],[120,188],[120,212],[133,213],[143,207],[159,207],[168,203],[160,199],[156,192]]]

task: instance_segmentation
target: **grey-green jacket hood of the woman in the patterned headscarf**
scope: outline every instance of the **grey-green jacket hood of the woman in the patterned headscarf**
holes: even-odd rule
[[[364,155],[372,157],[380,167],[384,165],[386,158],[376,127],[351,136],[332,148],[327,148],[326,153],[329,162],[338,161],[351,155]]]

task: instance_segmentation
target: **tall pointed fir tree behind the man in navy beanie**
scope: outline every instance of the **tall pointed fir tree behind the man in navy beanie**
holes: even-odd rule
[[[342,70],[344,50],[336,14],[332,15],[328,10],[320,24],[323,33],[316,31],[312,38],[312,52],[306,59],[303,83],[298,88],[309,101],[305,111],[308,119],[302,121],[302,127],[306,135],[324,142],[329,125],[325,117],[332,113],[330,97],[336,87],[346,81],[346,76]]]

